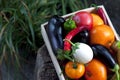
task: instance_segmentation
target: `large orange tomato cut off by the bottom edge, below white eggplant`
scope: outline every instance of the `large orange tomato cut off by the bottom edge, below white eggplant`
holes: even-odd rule
[[[107,69],[103,63],[93,59],[85,67],[86,80],[107,80]]]

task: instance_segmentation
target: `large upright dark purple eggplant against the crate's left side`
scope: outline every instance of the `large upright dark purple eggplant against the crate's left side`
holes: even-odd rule
[[[55,54],[57,54],[58,49],[63,48],[62,28],[64,22],[64,18],[58,15],[54,15],[50,18],[48,25],[46,26],[46,32],[52,50]]]

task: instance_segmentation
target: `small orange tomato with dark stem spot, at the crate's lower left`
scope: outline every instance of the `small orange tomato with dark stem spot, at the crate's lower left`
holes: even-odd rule
[[[73,63],[69,61],[65,65],[65,73],[71,79],[79,79],[84,75],[85,66],[80,63]]]

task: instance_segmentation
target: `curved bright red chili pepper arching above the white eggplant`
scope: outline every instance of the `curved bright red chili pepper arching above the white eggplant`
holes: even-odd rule
[[[85,29],[85,26],[77,27],[73,30],[71,30],[65,37],[67,40],[71,40],[76,34],[83,31]],[[71,50],[71,44],[68,41],[64,41],[64,50],[70,51]]]

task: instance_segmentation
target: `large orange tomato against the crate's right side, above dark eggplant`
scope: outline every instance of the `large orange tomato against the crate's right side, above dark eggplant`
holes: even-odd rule
[[[115,41],[113,30],[108,25],[98,25],[90,31],[90,43],[101,44],[107,48]]]

